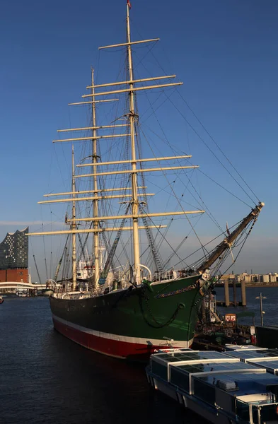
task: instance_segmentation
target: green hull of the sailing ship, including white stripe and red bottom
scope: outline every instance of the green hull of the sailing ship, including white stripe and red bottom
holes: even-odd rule
[[[121,358],[151,353],[168,343],[186,347],[192,343],[202,300],[199,278],[190,276],[79,300],[51,296],[54,326],[82,346]]]

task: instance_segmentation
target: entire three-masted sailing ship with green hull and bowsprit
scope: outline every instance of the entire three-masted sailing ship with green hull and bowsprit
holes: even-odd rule
[[[203,256],[194,264],[189,266],[180,261],[174,267],[169,266],[170,259],[163,261],[161,240],[166,240],[167,230],[163,232],[166,219],[179,218],[180,232],[185,232],[187,223],[190,231],[195,231],[190,219],[202,215],[204,210],[186,211],[182,195],[175,194],[173,184],[169,184],[168,194],[170,192],[172,201],[158,201],[162,211],[149,211],[149,199],[154,194],[147,192],[146,176],[149,180],[149,175],[156,175],[168,181],[169,173],[173,176],[177,172],[178,179],[182,180],[197,166],[192,165],[191,156],[186,154],[144,155],[139,136],[137,93],[176,88],[182,83],[173,83],[174,75],[134,77],[133,49],[159,39],[132,41],[130,8],[128,1],[126,42],[100,47],[126,49],[125,81],[97,85],[92,71],[91,85],[87,87],[90,93],[82,96],[82,102],[71,104],[90,108],[91,125],[58,130],[74,134],[79,131],[82,135],[55,140],[85,143],[91,148],[91,153],[85,159],[84,154],[81,163],[75,165],[72,147],[71,191],[46,194],[51,199],[39,202],[71,205],[70,214],[66,216],[69,227],[61,231],[30,233],[64,234],[68,241],[71,240],[70,249],[64,248],[54,280],[50,281],[54,289],[50,296],[54,328],[81,346],[117,358],[141,358],[157,348],[169,345],[186,348],[192,344],[199,308],[204,295],[212,288],[212,277],[238,240],[242,242],[242,237],[250,234],[263,206],[257,203],[243,220],[231,230],[227,228],[222,241],[214,245],[211,252],[202,246],[199,252],[203,252]],[[117,108],[114,122],[98,124],[98,107],[108,107],[110,102],[119,101],[115,96],[126,99],[123,112]],[[111,142],[109,148],[108,142]],[[85,181],[88,181],[87,189],[82,189],[81,183]],[[82,209],[81,204],[86,207]],[[171,204],[173,209],[166,211]],[[88,254],[85,245],[88,249],[90,243],[93,247]],[[166,243],[168,257],[173,257],[178,248],[175,250],[170,242]],[[59,279],[65,257],[71,258],[70,271]]]

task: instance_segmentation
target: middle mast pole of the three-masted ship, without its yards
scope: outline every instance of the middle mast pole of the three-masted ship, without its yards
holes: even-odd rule
[[[92,69],[92,95],[95,94],[94,88],[94,79],[93,79],[94,70]],[[93,163],[98,162],[97,156],[97,132],[96,132],[96,117],[95,117],[95,103],[92,103],[92,114],[93,114]],[[97,165],[93,165],[93,190],[96,193],[98,191],[98,177],[97,177]],[[98,200],[93,200],[93,218],[98,217]],[[98,230],[98,220],[93,221],[93,258],[95,265],[95,286],[98,285],[98,280],[100,278],[100,246],[99,246],[99,232]]]

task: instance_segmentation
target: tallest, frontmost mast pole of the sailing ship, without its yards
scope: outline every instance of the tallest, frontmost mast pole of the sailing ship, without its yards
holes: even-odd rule
[[[132,214],[138,216],[139,201],[138,201],[138,187],[137,187],[137,170],[136,164],[136,149],[135,149],[135,131],[134,123],[137,117],[134,111],[134,80],[133,80],[133,68],[132,68],[132,46],[130,37],[130,25],[129,25],[129,2],[127,2],[127,57],[128,57],[128,69],[129,69],[129,125],[130,125],[130,141],[132,150]],[[135,283],[140,283],[140,251],[139,251],[139,230],[138,230],[138,218],[132,218],[133,221],[133,254],[134,254],[134,274]]]

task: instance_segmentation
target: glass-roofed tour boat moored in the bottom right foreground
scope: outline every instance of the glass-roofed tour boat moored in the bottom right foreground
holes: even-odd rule
[[[146,375],[151,387],[211,423],[278,422],[278,377],[226,353],[158,351]]]

